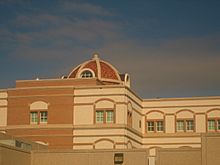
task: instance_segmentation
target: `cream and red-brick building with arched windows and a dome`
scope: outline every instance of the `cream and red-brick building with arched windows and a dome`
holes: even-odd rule
[[[50,149],[201,148],[220,132],[220,96],[140,98],[130,76],[94,55],[56,79],[0,90],[0,131]],[[135,81],[135,80],[132,80]]]

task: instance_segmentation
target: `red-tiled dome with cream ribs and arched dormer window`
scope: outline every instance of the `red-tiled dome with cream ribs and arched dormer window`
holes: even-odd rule
[[[103,82],[122,83],[115,67],[99,59],[98,54],[74,68],[68,78],[97,78]]]

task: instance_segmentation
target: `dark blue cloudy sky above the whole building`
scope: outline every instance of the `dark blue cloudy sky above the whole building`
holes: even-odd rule
[[[143,98],[220,95],[218,0],[0,0],[0,88],[94,52]]]

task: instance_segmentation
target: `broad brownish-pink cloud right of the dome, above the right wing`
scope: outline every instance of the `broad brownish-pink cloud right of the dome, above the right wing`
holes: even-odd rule
[[[142,96],[187,96],[186,91],[200,95],[196,91],[219,86],[219,39],[179,38],[145,46],[124,41],[107,44],[100,52],[111,55],[108,58],[119,70],[130,73],[133,89]]]

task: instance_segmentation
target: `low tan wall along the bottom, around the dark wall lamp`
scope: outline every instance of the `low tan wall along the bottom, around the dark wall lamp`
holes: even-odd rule
[[[124,154],[124,165],[148,165],[146,150],[85,150],[33,152],[32,165],[114,165],[114,154]]]

